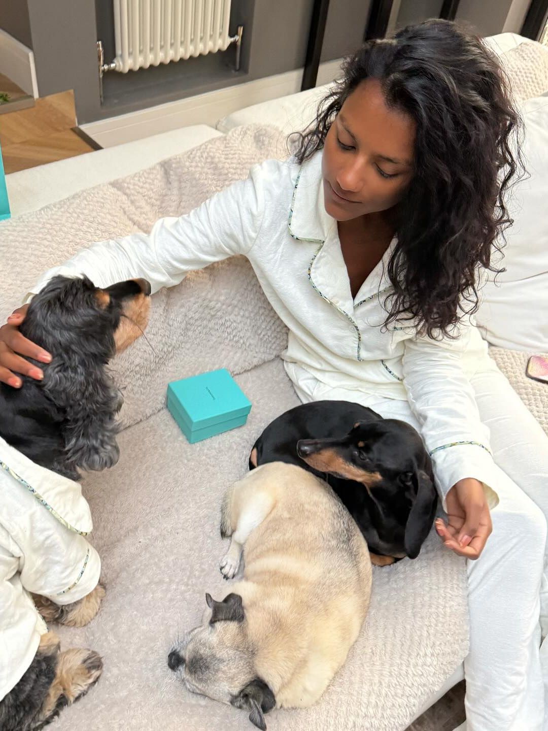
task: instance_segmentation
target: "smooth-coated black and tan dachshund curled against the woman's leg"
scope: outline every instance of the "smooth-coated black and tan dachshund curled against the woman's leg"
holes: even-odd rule
[[[281,414],[249,460],[289,462],[327,480],[368,542],[374,564],[416,558],[438,496],[419,433],[350,401],[313,401]]]

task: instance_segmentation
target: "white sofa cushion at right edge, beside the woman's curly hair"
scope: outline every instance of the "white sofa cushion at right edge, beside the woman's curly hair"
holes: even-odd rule
[[[529,177],[514,187],[508,207],[514,225],[506,231],[503,272],[487,281],[477,314],[493,345],[548,352],[548,95],[521,107],[522,148]]]

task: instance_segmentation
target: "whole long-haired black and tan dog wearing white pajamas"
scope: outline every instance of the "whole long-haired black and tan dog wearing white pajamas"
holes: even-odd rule
[[[61,652],[45,622],[83,626],[104,596],[77,480],[118,461],[123,398],[107,364],[142,334],[150,293],[142,279],[99,289],[57,277],[21,326],[53,355],[43,379],[0,384],[1,731],[42,728],[102,673],[96,652]]]

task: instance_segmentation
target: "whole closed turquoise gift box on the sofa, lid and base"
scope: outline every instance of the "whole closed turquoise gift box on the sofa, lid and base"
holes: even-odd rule
[[[246,397],[226,368],[172,381],[167,409],[191,444],[243,426],[251,411]]]

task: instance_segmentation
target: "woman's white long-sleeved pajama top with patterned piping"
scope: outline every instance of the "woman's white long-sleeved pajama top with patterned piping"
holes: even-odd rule
[[[337,221],[324,209],[321,151],[302,165],[268,160],[188,215],[160,219],[132,234],[83,249],[45,273],[87,275],[99,287],[144,277],[152,292],[179,284],[187,272],[243,254],[289,327],[286,371],[349,392],[404,399],[421,425],[442,499],[455,482],[475,477],[490,503],[489,433],[468,382],[487,356],[479,331],[463,320],[457,338],[417,336],[408,321],[383,327],[385,274],[394,242],[355,298],[340,249]],[[32,294],[32,292],[31,292]]]

